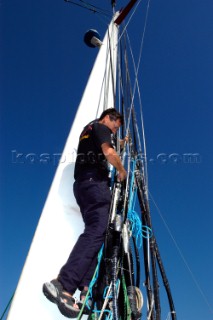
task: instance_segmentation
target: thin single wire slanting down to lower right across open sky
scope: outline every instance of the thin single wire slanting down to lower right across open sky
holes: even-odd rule
[[[181,259],[183,260],[186,268],[188,269],[188,271],[189,271],[189,273],[190,273],[190,275],[191,275],[191,277],[192,277],[192,280],[194,281],[194,283],[195,283],[198,291],[200,292],[200,294],[201,294],[203,300],[205,301],[206,305],[208,306],[210,312],[213,314],[213,309],[212,309],[212,307],[211,307],[211,305],[210,305],[210,303],[209,303],[206,295],[204,294],[204,292],[203,292],[200,284],[198,283],[195,275],[193,274],[193,272],[192,272],[192,270],[191,270],[188,262],[186,261],[186,258],[185,258],[184,255],[183,255],[182,250],[180,249],[179,245],[177,244],[177,241],[175,240],[175,238],[174,238],[174,236],[173,236],[173,234],[172,234],[172,232],[171,232],[171,230],[170,230],[167,222],[165,221],[165,219],[164,219],[164,217],[163,217],[163,215],[162,215],[162,212],[161,212],[160,208],[158,207],[156,201],[154,200],[154,198],[153,198],[153,196],[152,196],[152,194],[151,194],[150,192],[149,192],[149,196],[150,196],[150,199],[152,200],[152,202],[154,203],[154,205],[155,205],[155,207],[156,207],[156,209],[157,209],[157,212],[158,212],[159,216],[161,217],[161,219],[162,219],[162,221],[163,221],[163,224],[165,225],[165,227],[166,227],[166,229],[167,229],[167,231],[168,231],[168,233],[169,233],[172,241],[174,242],[174,245],[175,245],[175,247],[176,247],[176,249],[177,249],[177,251],[178,251]]]

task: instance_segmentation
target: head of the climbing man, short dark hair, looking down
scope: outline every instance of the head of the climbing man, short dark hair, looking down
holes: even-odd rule
[[[123,125],[123,116],[114,108],[102,112],[99,122],[107,126],[114,134]]]

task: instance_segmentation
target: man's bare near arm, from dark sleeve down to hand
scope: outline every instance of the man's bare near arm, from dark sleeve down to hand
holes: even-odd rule
[[[126,170],[123,167],[122,163],[121,163],[121,159],[119,157],[119,155],[117,154],[117,152],[115,151],[115,149],[113,149],[108,143],[102,143],[101,145],[101,149],[103,151],[104,156],[106,157],[107,161],[113,165],[117,171],[119,172],[118,177],[121,181],[123,181],[126,176]]]

